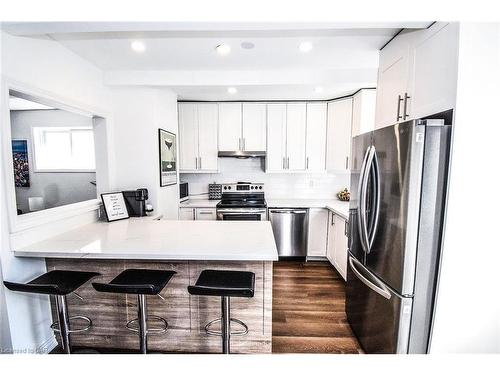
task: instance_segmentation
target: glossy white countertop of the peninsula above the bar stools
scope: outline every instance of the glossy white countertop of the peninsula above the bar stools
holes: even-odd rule
[[[96,222],[14,250],[14,255],[172,261],[278,260],[269,221]]]

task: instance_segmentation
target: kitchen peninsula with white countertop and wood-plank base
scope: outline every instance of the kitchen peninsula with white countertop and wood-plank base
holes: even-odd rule
[[[206,323],[219,317],[220,299],[191,296],[187,286],[204,269],[254,272],[254,297],[232,300],[231,315],[249,327],[248,335],[232,338],[232,351],[271,352],[272,264],[278,254],[268,221],[95,222],[17,249],[14,255],[45,258],[48,271],[99,272],[101,276],[94,280],[102,282],[127,268],[177,272],[161,294],[164,300],[148,297],[148,313],[169,324],[166,333],[148,340],[150,350],[161,352],[220,352],[220,338],[204,330]],[[74,346],[138,347],[138,336],[125,328],[137,314],[135,296],[98,293],[90,283],[78,293],[83,301],[68,296],[70,315],[89,316],[94,325],[88,332],[72,335]]]

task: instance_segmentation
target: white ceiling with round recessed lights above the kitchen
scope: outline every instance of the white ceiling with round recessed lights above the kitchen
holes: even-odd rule
[[[102,69],[108,85],[170,87],[188,100],[286,100],[374,87],[380,48],[401,28],[429,24],[56,22],[3,28],[61,43]],[[134,52],[132,41],[145,51]],[[304,41],[313,46],[307,53],[298,48]],[[221,43],[231,47],[228,55],[215,51]],[[228,94],[228,87],[237,93]]]

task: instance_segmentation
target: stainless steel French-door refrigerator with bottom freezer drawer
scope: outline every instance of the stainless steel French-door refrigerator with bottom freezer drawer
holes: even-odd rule
[[[352,141],[346,313],[367,353],[426,353],[451,126],[415,120]]]

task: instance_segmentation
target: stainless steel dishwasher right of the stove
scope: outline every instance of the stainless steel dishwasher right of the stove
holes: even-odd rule
[[[270,208],[269,220],[280,257],[307,255],[307,208]]]

